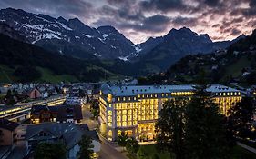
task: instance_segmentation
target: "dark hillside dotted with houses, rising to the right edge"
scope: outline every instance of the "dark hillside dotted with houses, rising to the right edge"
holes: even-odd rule
[[[226,50],[186,55],[166,72],[139,78],[140,84],[195,84],[204,75],[210,84],[256,84],[256,30],[241,35]]]

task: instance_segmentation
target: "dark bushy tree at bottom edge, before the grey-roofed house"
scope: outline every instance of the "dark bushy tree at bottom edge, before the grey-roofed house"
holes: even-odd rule
[[[35,159],[66,159],[66,155],[66,147],[61,143],[40,143],[36,146]]]

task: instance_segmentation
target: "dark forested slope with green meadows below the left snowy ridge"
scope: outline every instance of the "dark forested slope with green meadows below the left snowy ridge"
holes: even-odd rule
[[[51,53],[3,34],[0,48],[1,82],[97,82],[116,76],[89,61]]]

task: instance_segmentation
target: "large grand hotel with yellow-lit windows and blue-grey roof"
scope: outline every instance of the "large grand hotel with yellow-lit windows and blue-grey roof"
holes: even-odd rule
[[[155,124],[162,104],[180,96],[191,96],[193,85],[109,86],[103,84],[99,97],[100,131],[108,140],[115,141],[125,132],[139,141],[154,140]],[[207,91],[227,115],[230,107],[241,100],[239,90],[211,85]]]

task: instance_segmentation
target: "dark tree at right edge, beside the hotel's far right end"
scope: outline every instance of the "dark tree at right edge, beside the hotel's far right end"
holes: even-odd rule
[[[228,124],[234,137],[256,138],[255,132],[252,131],[254,111],[255,106],[251,97],[243,97],[241,102],[231,107]]]

